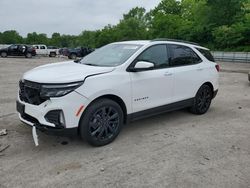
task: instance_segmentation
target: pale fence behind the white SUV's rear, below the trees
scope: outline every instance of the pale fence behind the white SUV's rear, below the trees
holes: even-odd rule
[[[212,52],[216,61],[250,63],[250,52]]]

